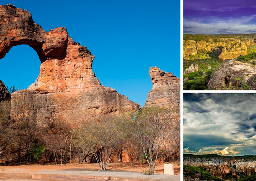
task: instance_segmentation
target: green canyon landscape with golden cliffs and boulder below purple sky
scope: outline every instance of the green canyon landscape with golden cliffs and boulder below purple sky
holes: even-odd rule
[[[254,90],[255,37],[185,34],[184,90]]]

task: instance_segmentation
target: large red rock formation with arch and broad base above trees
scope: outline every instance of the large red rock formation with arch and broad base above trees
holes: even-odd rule
[[[100,84],[92,70],[94,56],[74,42],[66,28],[46,32],[34,23],[30,12],[14,6],[0,5],[0,16],[0,59],[12,46],[27,44],[41,60],[35,83],[12,94],[12,107],[14,102],[27,106],[39,103],[37,118],[41,120],[55,113],[79,112],[90,117],[139,108],[126,96]]]

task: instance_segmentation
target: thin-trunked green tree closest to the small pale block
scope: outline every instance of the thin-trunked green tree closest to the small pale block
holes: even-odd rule
[[[130,132],[137,137],[143,148],[149,174],[155,173],[160,147],[166,137],[180,129],[179,117],[178,109],[143,107],[130,125]]]

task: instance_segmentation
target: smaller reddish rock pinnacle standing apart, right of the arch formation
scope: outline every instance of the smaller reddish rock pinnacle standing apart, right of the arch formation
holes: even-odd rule
[[[149,68],[153,87],[147,94],[145,106],[180,106],[180,78],[158,67]]]

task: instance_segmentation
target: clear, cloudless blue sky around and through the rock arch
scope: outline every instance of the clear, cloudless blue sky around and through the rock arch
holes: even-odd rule
[[[93,71],[101,84],[141,106],[152,88],[150,66],[180,77],[180,1],[1,1],[8,3],[30,11],[45,31],[66,27],[95,55]],[[39,69],[36,52],[19,45],[0,60],[0,79],[26,89]]]

